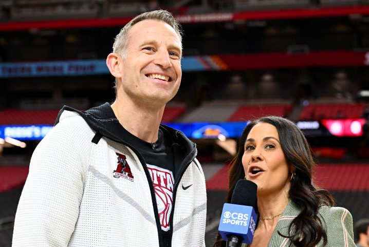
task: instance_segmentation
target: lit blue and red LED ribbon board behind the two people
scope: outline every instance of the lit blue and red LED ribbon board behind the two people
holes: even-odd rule
[[[195,122],[164,123],[193,139],[219,139],[241,137],[249,121],[243,122]],[[325,119],[321,121],[298,121],[297,126],[305,135],[322,137],[353,137],[363,135],[365,119]],[[0,125],[0,138],[17,140],[41,140],[52,129],[52,125]]]

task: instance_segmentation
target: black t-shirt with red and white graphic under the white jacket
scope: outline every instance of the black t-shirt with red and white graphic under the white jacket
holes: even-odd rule
[[[154,184],[164,246],[170,246],[169,230],[172,226],[169,223],[175,179],[171,137],[165,130],[159,129],[158,140],[155,143],[149,143],[132,135],[126,129],[123,131],[126,132],[126,141],[142,154],[149,168]]]

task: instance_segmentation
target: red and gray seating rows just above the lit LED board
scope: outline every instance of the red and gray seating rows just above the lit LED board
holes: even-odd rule
[[[204,104],[190,111],[186,116],[185,106],[167,106],[164,109],[163,123],[170,122],[238,122],[262,116],[288,117],[291,104],[280,105],[241,105],[238,104]],[[54,124],[59,110],[18,110],[0,111],[0,125],[12,124]],[[316,104],[304,107],[299,120],[361,118],[364,104]],[[183,118],[179,119],[179,117]]]

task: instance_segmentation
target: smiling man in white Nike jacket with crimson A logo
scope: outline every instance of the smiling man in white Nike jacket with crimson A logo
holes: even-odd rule
[[[32,156],[13,246],[205,246],[196,146],[160,125],[180,85],[181,43],[165,10],[122,28],[106,60],[116,100],[60,111]]]

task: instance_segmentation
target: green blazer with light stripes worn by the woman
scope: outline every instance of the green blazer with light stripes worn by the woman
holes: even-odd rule
[[[291,221],[300,213],[299,208],[293,202],[286,206],[281,218],[275,226],[274,232],[269,240],[267,247],[288,247],[290,240],[278,234],[288,234],[288,226]],[[328,242],[325,247],[355,247],[353,218],[343,207],[322,206],[319,209],[320,218],[326,226]],[[325,223],[324,223],[325,222]],[[246,244],[242,245],[246,247]],[[323,247],[323,240],[316,247]]]

